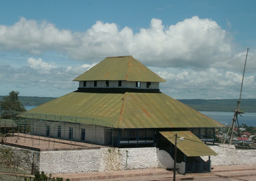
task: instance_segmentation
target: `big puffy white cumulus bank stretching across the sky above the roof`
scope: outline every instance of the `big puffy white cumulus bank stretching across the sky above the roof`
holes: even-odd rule
[[[0,39],[2,51],[19,49],[31,55],[53,51],[88,63],[107,56],[133,55],[147,66],[239,70],[235,64],[241,54],[235,53],[232,36],[218,23],[197,16],[171,26],[153,18],[149,28],[136,33],[101,21],[85,32],[72,32],[22,17],[12,26],[0,25]],[[256,64],[249,69],[253,68]]]

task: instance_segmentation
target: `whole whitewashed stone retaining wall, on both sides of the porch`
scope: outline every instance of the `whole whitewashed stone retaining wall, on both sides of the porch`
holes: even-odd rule
[[[256,164],[256,150],[236,150],[234,145],[209,146],[219,155],[211,156],[211,165]],[[171,167],[166,165],[166,153],[156,147],[149,148],[101,148],[99,150],[31,151],[13,148],[18,166],[31,171],[33,154],[36,169],[45,173],[79,173],[114,171],[142,168]],[[158,158],[157,158],[158,154]],[[165,157],[163,158],[163,155]],[[161,159],[160,159],[161,158]],[[202,157],[205,161],[208,156]],[[178,166],[179,167],[179,166]],[[183,168],[183,166],[181,166]]]

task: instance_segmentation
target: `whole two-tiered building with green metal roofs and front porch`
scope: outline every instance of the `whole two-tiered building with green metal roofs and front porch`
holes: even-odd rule
[[[74,79],[74,92],[29,110],[36,118],[32,134],[98,145],[158,147],[173,155],[186,172],[195,170],[199,156],[217,155],[204,142],[215,142],[219,122],[160,92],[165,80],[132,56],[107,57]],[[170,147],[171,145],[171,147]],[[210,161],[210,160],[209,160]]]

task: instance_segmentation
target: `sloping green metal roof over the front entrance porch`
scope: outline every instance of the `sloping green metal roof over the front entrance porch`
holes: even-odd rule
[[[178,136],[177,142],[180,137],[184,137],[183,141],[177,143],[177,147],[187,156],[218,155],[190,131],[160,132],[160,134],[168,139],[173,145],[175,145],[175,134]]]

